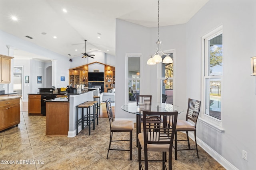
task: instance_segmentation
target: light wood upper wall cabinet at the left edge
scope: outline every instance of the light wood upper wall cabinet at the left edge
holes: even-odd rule
[[[10,83],[11,82],[11,63],[12,58],[6,55],[0,55],[0,83]]]

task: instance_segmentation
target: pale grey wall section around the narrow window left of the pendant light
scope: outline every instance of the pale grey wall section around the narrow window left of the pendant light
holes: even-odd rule
[[[116,20],[116,118],[134,118],[136,115],[127,113],[121,109],[125,103],[125,56],[126,53],[142,53],[142,63],[148,60],[150,53],[150,29],[127,21]],[[150,92],[149,66],[143,66],[144,94]]]

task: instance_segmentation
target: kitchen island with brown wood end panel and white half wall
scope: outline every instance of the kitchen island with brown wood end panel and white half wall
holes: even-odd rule
[[[46,135],[75,137],[76,106],[94,101],[94,90],[86,89],[76,94],[70,93],[68,98],[46,100]]]

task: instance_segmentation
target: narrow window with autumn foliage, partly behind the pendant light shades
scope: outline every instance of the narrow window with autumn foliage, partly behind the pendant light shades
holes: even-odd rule
[[[171,53],[168,52],[169,56],[173,59],[174,52]],[[166,55],[162,56],[162,59],[164,59]],[[165,64],[162,63],[162,71],[161,71],[161,77],[160,77],[160,83],[161,83],[161,102],[162,103],[168,103],[173,104],[173,79],[174,79],[174,69],[173,69],[173,63]]]

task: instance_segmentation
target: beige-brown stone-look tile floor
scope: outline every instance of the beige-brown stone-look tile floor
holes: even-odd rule
[[[138,149],[136,148],[136,129],[133,133],[133,157],[129,160],[128,151],[110,150],[108,118],[100,118],[99,125],[91,131],[82,130],[76,137],[45,136],[44,116],[28,116],[20,112],[20,124],[0,132],[0,160],[13,161],[1,164],[0,169],[14,170],[136,170],[138,169]],[[136,125],[134,125],[136,127]],[[183,133],[178,136],[186,137]],[[116,139],[128,137],[128,133],[114,135]],[[180,147],[184,143],[180,144]],[[112,147],[128,149],[128,142],[112,144]],[[143,154],[143,153],[142,153]],[[161,158],[158,152],[151,152],[150,158]],[[7,163],[7,162],[6,162]],[[161,170],[160,162],[150,162],[150,170]],[[199,159],[195,151],[179,151],[178,160],[172,156],[174,170],[224,170],[211,156],[199,147]]]

